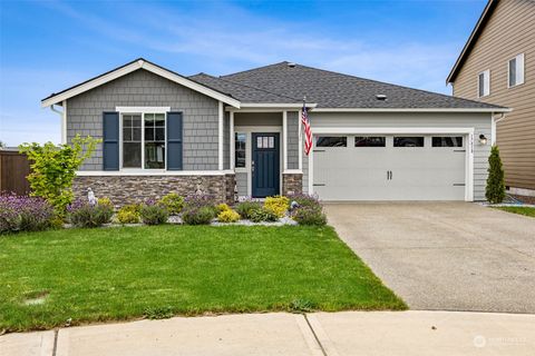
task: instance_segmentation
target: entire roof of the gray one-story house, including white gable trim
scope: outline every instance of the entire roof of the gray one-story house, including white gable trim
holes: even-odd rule
[[[508,111],[485,102],[363,79],[288,61],[227,76],[181,76],[139,58],[41,100],[47,107],[135,70],[148,70],[235,108],[299,108],[303,97],[317,110]],[[378,96],[386,96],[379,100]]]

